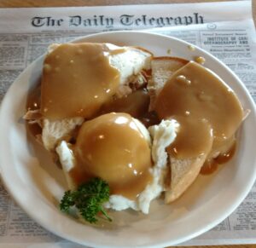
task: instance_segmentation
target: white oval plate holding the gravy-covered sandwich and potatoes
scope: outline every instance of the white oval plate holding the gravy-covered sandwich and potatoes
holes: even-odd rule
[[[189,43],[173,37],[144,32],[107,32],[83,37],[79,41],[137,45],[157,56],[167,55],[167,50],[171,49],[173,56],[188,60],[195,55],[204,56],[205,65],[230,84],[245,109],[251,109],[241,126],[238,150],[229,164],[220,166],[210,176],[199,176],[172,205],[155,201],[148,216],[134,211],[111,212],[115,221],[105,228],[81,224],[59,211],[58,202],[67,188],[64,177],[51,162],[49,154],[32,144],[21,118],[26,112],[28,89],[40,78],[43,61],[40,57],[15,80],[0,112],[2,177],[16,202],[52,233],[94,247],[176,245],[222,222],[241,204],[256,176],[256,115],[253,100],[245,86],[212,55],[199,48],[191,51]]]

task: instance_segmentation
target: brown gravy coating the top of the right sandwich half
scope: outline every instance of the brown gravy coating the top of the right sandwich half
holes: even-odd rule
[[[210,154],[225,147],[243,118],[235,93],[213,72],[189,62],[160,91],[155,104],[159,118],[180,123],[177,141],[167,151],[179,159]]]

